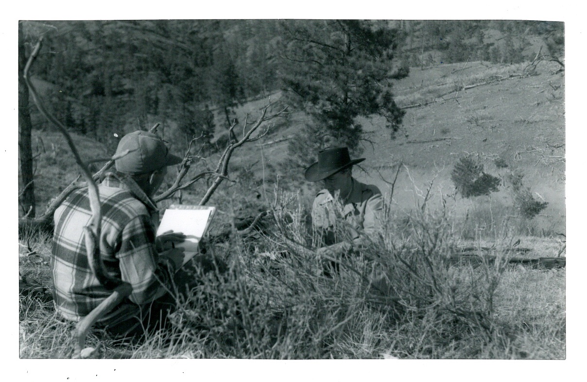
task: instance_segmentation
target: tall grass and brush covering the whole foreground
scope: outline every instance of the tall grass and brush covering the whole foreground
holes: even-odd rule
[[[507,242],[495,262],[455,262],[464,241],[450,211],[391,207],[379,236],[324,261],[301,199],[278,192],[268,229],[210,245],[230,271],[195,275],[203,282],[173,329],[134,343],[96,333],[89,344],[102,343],[107,358],[565,357],[564,271],[512,269]],[[556,286],[533,289],[542,281]],[[68,326],[50,302],[21,296],[21,357],[69,356]]]

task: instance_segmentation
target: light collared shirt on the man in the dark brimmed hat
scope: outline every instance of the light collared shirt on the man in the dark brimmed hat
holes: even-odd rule
[[[380,214],[383,209],[381,191],[375,185],[363,184],[352,178],[352,189],[337,208],[328,190],[318,192],[312,205],[312,222],[315,228],[326,231],[325,244],[340,241],[337,238],[336,222],[343,218],[353,240],[359,239],[360,231],[373,235],[380,227]],[[337,219],[338,218],[338,219]]]

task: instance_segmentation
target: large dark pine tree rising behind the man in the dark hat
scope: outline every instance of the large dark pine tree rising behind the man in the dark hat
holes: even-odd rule
[[[373,114],[386,118],[392,135],[399,129],[404,111],[393,100],[392,80],[407,70],[390,70],[399,31],[357,20],[286,21],[282,27],[286,100],[312,117],[303,141],[357,152],[363,129],[356,118]]]

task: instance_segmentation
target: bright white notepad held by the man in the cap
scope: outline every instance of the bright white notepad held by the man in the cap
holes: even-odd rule
[[[185,249],[183,261],[185,264],[198,253],[198,244],[208,231],[214,212],[216,207],[172,204],[163,214],[157,236],[169,230],[183,232],[185,241],[176,244],[176,247]]]

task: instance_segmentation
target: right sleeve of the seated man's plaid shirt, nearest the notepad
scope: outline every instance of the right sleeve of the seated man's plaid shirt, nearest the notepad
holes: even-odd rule
[[[174,265],[159,259],[155,233],[147,216],[140,215],[123,228],[122,245],[116,253],[123,281],[130,283],[130,300],[138,305],[151,302],[173,290]]]

